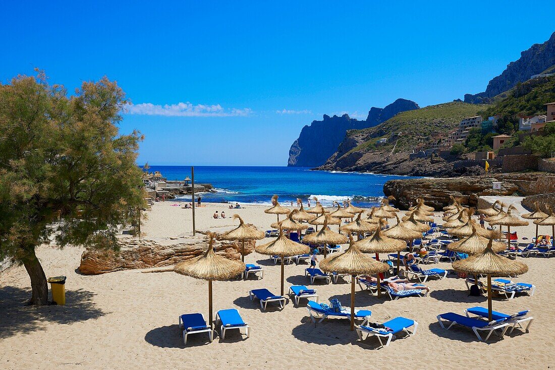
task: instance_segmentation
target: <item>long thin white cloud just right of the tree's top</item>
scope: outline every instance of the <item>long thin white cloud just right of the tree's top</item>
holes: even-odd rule
[[[250,108],[224,109],[220,104],[193,105],[189,102],[177,104],[157,105],[152,103],[129,104],[126,108],[129,114],[164,115],[178,117],[231,117],[248,116],[253,111]]]

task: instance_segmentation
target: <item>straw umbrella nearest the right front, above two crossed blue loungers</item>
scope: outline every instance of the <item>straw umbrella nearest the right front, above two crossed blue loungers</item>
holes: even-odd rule
[[[487,275],[487,308],[488,320],[492,321],[491,303],[491,277],[522,275],[528,271],[528,266],[519,261],[509,260],[507,257],[499,256],[492,250],[492,240],[486,249],[480,254],[473,255],[467,259],[453,262],[456,271],[471,273],[472,275]]]

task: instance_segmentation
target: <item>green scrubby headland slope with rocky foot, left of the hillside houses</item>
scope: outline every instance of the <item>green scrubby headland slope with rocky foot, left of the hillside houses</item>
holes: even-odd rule
[[[413,164],[408,161],[413,149],[432,143],[434,135],[456,129],[461,119],[485,108],[485,105],[462,102],[430,105],[399,113],[373,128],[351,130],[336,153],[317,169],[415,174]],[[380,138],[386,138],[388,143],[377,145]]]

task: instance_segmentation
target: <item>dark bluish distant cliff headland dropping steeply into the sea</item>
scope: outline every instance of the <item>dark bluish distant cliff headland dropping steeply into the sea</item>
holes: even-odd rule
[[[287,166],[316,167],[324,164],[345,138],[347,130],[361,130],[379,125],[402,111],[418,109],[418,104],[397,99],[385,108],[371,108],[366,120],[344,114],[340,117],[324,115],[321,121],[304,126],[299,138],[291,145]]]

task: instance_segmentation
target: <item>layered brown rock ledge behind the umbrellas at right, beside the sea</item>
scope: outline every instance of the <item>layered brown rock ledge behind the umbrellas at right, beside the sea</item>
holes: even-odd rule
[[[492,182],[500,181],[501,190],[493,190]],[[422,197],[427,205],[441,210],[451,203],[450,196],[464,205],[476,206],[478,197],[485,195],[533,195],[553,189],[555,175],[543,173],[507,173],[467,176],[446,179],[390,180],[384,185],[384,194],[395,197],[395,206],[408,209]],[[553,191],[553,190],[551,190]]]

